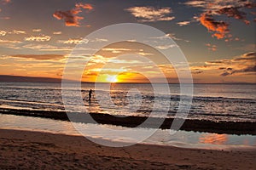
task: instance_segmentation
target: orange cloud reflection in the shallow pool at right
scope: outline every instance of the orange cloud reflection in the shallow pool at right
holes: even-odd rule
[[[228,141],[228,135],[217,133],[202,134],[199,141],[202,144],[225,144]]]

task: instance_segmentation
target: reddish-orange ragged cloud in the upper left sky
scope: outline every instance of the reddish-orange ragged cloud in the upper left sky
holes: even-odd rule
[[[57,10],[53,16],[57,20],[64,20],[66,26],[80,26],[79,20],[83,20],[84,17],[78,16],[78,14],[82,12],[82,8],[88,11],[93,9],[89,3],[76,3],[75,8],[67,11]]]

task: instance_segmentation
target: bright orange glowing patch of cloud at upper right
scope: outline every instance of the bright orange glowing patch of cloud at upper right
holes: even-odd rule
[[[224,21],[216,21],[212,18],[211,14],[203,13],[200,17],[200,22],[202,26],[207,27],[208,31],[215,32],[212,37],[217,37],[222,39],[226,37],[226,34],[229,33],[228,24]]]

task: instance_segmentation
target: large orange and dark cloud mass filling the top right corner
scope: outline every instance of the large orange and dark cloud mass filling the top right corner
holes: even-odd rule
[[[256,3],[252,0],[192,0],[184,3],[185,5],[202,8],[203,13],[200,16],[202,26],[207,27],[208,31],[213,31],[212,37],[218,39],[226,38],[225,41],[231,41],[229,34],[229,24],[222,20],[215,20],[214,16],[227,16],[236,20],[242,20],[247,25],[247,14],[251,14],[249,9],[255,8]]]

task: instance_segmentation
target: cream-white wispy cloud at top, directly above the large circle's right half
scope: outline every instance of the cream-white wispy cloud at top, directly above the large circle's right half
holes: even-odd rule
[[[168,16],[172,14],[172,9],[166,8],[154,8],[154,7],[131,7],[126,8],[126,11],[130,12],[133,16],[139,19],[141,22],[154,22],[159,20],[174,20],[174,16]]]

